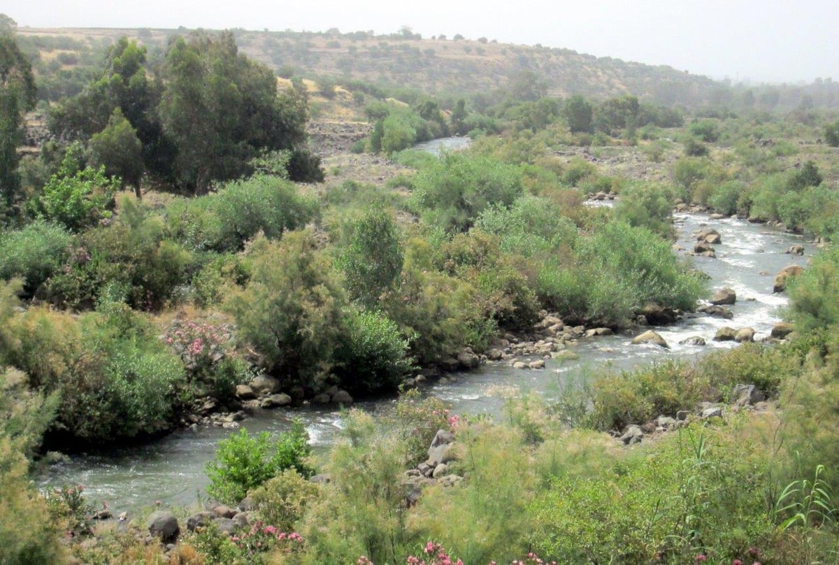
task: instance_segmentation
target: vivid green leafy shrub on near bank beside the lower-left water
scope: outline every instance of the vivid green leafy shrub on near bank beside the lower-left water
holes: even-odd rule
[[[308,479],[314,473],[306,463],[311,452],[308,438],[301,421],[294,421],[289,431],[280,434],[274,442],[268,432],[253,437],[242,428],[219,442],[216,458],[207,463],[206,473],[210,478],[207,493],[221,503],[235,505],[249,490],[286,469],[294,469]]]

